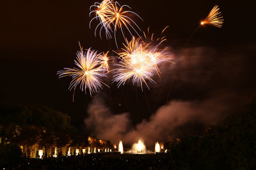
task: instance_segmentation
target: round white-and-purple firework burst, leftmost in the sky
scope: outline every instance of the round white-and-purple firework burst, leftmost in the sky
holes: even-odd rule
[[[72,76],[72,81],[68,87],[69,90],[76,90],[76,87],[79,86],[85,93],[88,89],[92,96],[93,93],[103,88],[102,84],[106,85],[101,78],[106,76],[104,70],[108,65],[102,65],[100,57],[102,55],[90,50],[90,48],[86,52],[83,52],[83,48],[81,48],[81,51],[77,52],[77,60],[75,60],[78,68],[70,69],[65,67],[63,71],[58,71],[57,74],[59,74],[59,78]]]

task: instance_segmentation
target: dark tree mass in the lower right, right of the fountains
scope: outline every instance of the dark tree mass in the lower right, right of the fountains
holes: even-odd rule
[[[245,113],[205,129],[202,135],[170,143],[173,169],[253,169],[256,167],[256,104]]]

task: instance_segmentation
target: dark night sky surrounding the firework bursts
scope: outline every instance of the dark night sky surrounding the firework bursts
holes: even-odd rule
[[[63,67],[74,66],[79,41],[84,48],[92,47],[100,52],[110,50],[108,41],[101,40],[99,36],[95,38],[94,29],[89,29],[89,8],[94,2],[14,0],[2,4],[0,13],[2,73],[0,100],[2,102],[44,104],[68,113],[74,122],[83,122],[92,97],[77,90],[73,103],[73,92],[68,91],[71,79],[58,79],[56,72]],[[157,80],[157,85],[153,85],[151,91],[145,90],[151,106],[150,111],[145,110],[148,106],[144,94],[138,92],[141,105],[140,120],[148,118],[159,106],[166,103],[166,94],[172,80],[174,81],[170,99],[204,100],[216,89],[225,89],[224,93],[227,89],[232,93],[243,92],[247,98],[255,95],[256,37],[255,26],[251,24],[254,14],[251,4],[232,0],[118,2],[131,6],[132,11],[143,18],[144,22],[136,20],[143,30],[150,27],[152,32],[161,32],[164,27],[170,26],[165,32],[168,41],[164,45],[170,47],[174,62],[177,63],[175,67],[178,67],[174,69],[173,74],[163,71],[161,81]],[[188,50],[185,50],[192,57],[184,57],[186,53],[183,58],[180,57],[177,52],[214,4],[218,4],[223,13],[225,19],[223,27],[221,29],[209,25],[200,27],[189,42]],[[193,62],[195,59],[193,55],[197,53],[196,47],[203,48],[199,55],[204,55],[207,60],[200,60],[195,65],[189,64],[188,62]],[[113,40],[111,40],[111,48],[116,50]],[[220,59],[220,57],[224,58]],[[192,67],[179,65],[184,58],[187,59],[186,64]],[[227,63],[223,64],[223,62]],[[190,73],[189,80],[182,79],[182,76],[188,76],[186,73]],[[198,80],[200,78],[198,75],[204,76],[202,85],[198,85],[201,82]],[[208,79],[205,78],[207,76]],[[159,90],[161,88],[164,92]],[[109,107],[113,104],[114,113],[136,112],[134,86],[128,84],[123,89],[117,89],[113,85],[110,90],[104,88],[102,91]],[[160,96],[156,97],[159,93]],[[122,106],[118,106],[119,103]],[[135,120],[135,117],[132,116],[132,119]]]

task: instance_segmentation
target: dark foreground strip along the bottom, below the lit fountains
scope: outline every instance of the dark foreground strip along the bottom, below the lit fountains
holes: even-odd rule
[[[90,154],[26,159],[17,169],[170,169],[165,154]]]

